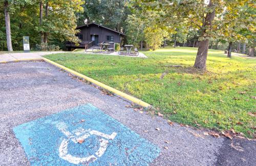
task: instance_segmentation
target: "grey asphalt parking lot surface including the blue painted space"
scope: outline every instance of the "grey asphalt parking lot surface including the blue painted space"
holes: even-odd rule
[[[198,132],[196,130],[178,124],[170,126],[160,117],[126,108],[129,102],[102,95],[92,85],[72,78],[45,62],[0,64],[0,85],[1,165],[61,165],[63,158],[70,159],[65,152],[68,145],[65,139],[59,143],[55,137],[58,139],[58,135],[63,133],[72,140],[72,135],[79,136],[83,129],[71,130],[87,124],[91,129],[86,132],[96,135],[95,139],[98,136],[109,139],[101,140],[100,147],[103,148],[100,153],[95,153],[97,162],[94,158],[87,158],[86,163],[90,165],[253,165],[256,162],[255,142],[233,140],[233,145],[240,147],[236,150],[230,146],[231,141],[223,137],[215,139],[200,132],[202,137],[196,137],[193,134]],[[101,128],[104,125],[107,126],[105,130]],[[92,130],[93,127],[96,128]],[[113,131],[109,131],[111,129]],[[125,134],[131,135],[131,139],[127,139]],[[50,137],[52,139],[46,141]],[[109,146],[104,149],[107,143]],[[121,148],[130,145],[132,149]],[[84,142],[81,146],[93,149],[94,143]],[[45,147],[52,149],[49,151]],[[58,147],[63,151],[54,155],[59,156],[59,162],[56,162],[56,158],[48,156],[58,153],[61,149]],[[80,152],[77,148],[73,155],[79,156],[83,151],[76,153]],[[104,150],[105,156],[111,156],[109,160],[103,159]],[[121,161],[119,157],[122,157]],[[73,159],[70,160],[73,164],[83,163]]]

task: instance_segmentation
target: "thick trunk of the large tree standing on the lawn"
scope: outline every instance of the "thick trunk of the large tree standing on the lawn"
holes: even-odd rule
[[[211,0],[209,0],[208,7],[212,7]],[[204,37],[204,34],[206,33],[205,26],[211,26],[211,22],[212,22],[212,20],[214,20],[214,17],[215,17],[215,9],[206,14],[205,21],[202,25],[202,28],[203,28],[203,31],[201,34],[202,37]],[[206,69],[208,46],[209,46],[208,39],[204,39],[204,40],[200,41],[198,51],[197,51],[197,58],[196,58],[196,61],[194,64],[195,68]]]

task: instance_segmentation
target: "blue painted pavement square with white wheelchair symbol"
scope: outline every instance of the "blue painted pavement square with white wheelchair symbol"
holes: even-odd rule
[[[31,165],[148,165],[160,149],[92,104],[13,128]]]

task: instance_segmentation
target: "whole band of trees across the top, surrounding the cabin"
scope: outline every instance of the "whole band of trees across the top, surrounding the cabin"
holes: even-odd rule
[[[195,67],[206,68],[208,48],[248,53],[255,49],[252,0],[0,0],[0,50],[75,43],[76,26],[96,22],[126,34],[124,43],[155,50],[198,47]]]

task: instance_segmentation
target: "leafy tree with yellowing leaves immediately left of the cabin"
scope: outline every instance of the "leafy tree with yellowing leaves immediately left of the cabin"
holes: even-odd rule
[[[39,1],[39,25],[36,30],[41,34],[41,43],[48,43],[49,37],[78,43],[79,39],[75,36],[79,32],[76,30],[76,13],[83,11],[82,4],[82,0]]]

